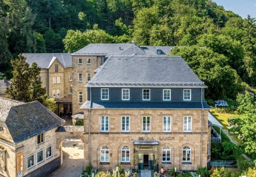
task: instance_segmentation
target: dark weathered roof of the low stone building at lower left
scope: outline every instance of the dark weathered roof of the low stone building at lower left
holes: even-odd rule
[[[5,121],[14,143],[65,123],[38,101],[23,103],[7,98],[0,98],[0,120]]]

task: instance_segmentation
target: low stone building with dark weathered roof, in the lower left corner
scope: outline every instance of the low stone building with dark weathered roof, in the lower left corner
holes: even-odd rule
[[[38,101],[0,98],[0,175],[45,176],[60,167],[55,131],[64,123]]]

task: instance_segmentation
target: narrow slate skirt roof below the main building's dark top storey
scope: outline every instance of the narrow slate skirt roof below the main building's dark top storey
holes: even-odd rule
[[[80,109],[89,109],[90,101],[86,101]],[[204,109],[211,107],[203,101]],[[133,102],[133,101],[94,101],[91,109],[202,109],[200,101],[188,102]]]

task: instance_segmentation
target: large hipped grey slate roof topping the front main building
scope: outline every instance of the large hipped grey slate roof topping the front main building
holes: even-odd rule
[[[86,87],[206,87],[181,56],[112,55]]]

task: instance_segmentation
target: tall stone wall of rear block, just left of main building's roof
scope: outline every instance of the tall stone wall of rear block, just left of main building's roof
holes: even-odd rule
[[[78,64],[78,60],[82,59],[82,64]],[[91,64],[87,64],[87,59],[90,59]],[[90,78],[94,76],[94,70],[103,65],[104,56],[72,56],[72,109],[73,114],[81,112],[80,107],[87,100],[87,73],[90,73]],[[82,82],[78,81],[78,74],[82,73]],[[83,101],[78,102],[79,92],[83,93]]]

